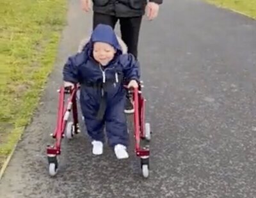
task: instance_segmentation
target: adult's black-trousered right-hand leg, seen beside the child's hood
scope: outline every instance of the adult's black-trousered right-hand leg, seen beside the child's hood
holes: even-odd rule
[[[120,29],[122,40],[128,47],[128,52],[138,57],[138,41],[142,17],[121,17]]]

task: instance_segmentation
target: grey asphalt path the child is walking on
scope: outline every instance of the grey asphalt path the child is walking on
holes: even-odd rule
[[[61,68],[92,27],[79,1],[70,0],[67,17],[54,72],[0,181],[1,198],[256,197],[256,22],[197,0],[166,0],[141,27],[150,177],[142,178],[132,146],[127,160],[108,146],[93,157],[80,133],[63,141],[51,178],[45,148],[53,142]]]

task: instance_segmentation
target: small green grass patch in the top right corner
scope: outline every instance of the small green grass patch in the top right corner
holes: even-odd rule
[[[256,19],[256,0],[205,0],[223,8],[239,11]]]

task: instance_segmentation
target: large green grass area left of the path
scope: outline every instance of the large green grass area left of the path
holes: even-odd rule
[[[0,167],[52,71],[66,11],[65,0],[0,1]]]

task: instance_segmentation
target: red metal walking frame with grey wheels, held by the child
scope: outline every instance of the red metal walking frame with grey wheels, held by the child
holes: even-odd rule
[[[132,90],[134,100],[134,141],[135,141],[135,153],[141,158],[141,172],[144,178],[148,178],[149,175],[149,148],[141,148],[141,140],[146,139],[150,141],[150,124],[145,123],[145,102],[141,93],[143,88],[142,82],[139,88]],[[57,126],[52,134],[55,139],[54,146],[47,146],[47,158],[49,162],[49,174],[51,176],[56,175],[58,171],[58,158],[61,154],[61,140],[63,137],[72,139],[72,137],[79,133],[78,115],[77,115],[77,99],[76,94],[79,87],[74,86],[74,89],[69,91],[64,87],[61,87],[59,91],[58,102],[58,118]],[[70,95],[67,101],[67,107],[65,107],[65,95]],[[70,112],[73,114],[73,122],[67,122]]]

